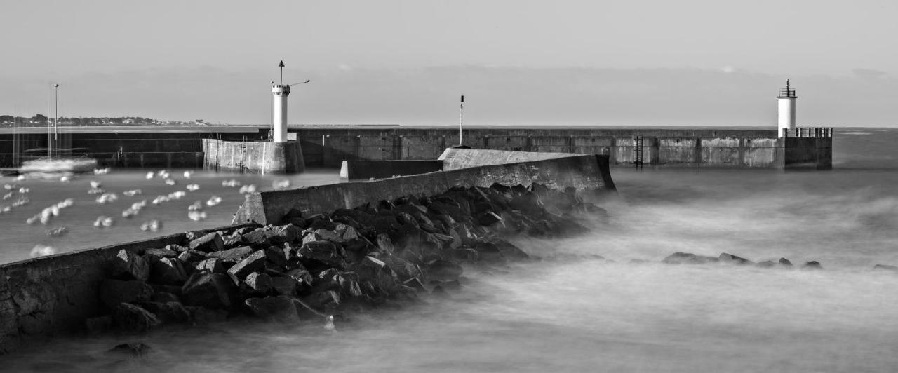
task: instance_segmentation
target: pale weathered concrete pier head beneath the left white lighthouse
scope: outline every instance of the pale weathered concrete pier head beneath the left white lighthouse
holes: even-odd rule
[[[206,169],[236,169],[254,173],[293,174],[305,163],[298,142],[237,142],[203,139]]]

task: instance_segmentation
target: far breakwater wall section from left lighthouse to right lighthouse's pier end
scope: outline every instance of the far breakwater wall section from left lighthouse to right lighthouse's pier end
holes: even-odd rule
[[[333,167],[343,160],[432,160],[459,143],[450,128],[291,128],[303,147],[307,165]],[[779,138],[775,129],[653,128],[476,128],[464,131],[474,149],[515,152],[603,154],[610,164],[667,167],[787,169],[815,159],[832,159],[832,137],[814,143]],[[641,149],[641,152],[636,152]],[[814,165],[817,167],[817,165]],[[832,167],[823,162],[820,169]]]

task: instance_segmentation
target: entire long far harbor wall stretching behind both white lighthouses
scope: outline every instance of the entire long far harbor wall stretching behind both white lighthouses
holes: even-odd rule
[[[253,141],[266,138],[268,131],[261,126],[255,132],[218,127],[216,132],[167,133],[143,128],[148,129],[105,133],[96,128],[63,136],[66,144],[81,150],[74,155],[97,158],[107,167],[201,168],[206,159],[204,138]],[[446,147],[459,143],[458,130],[452,127],[292,126],[289,131],[300,144],[306,167],[337,168],[343,160],[435,160]],[[480,127],[465,129],[463,134],[464,143],[475,149],[603,154],[609,156],[612,167],[634,164],[641,137],[642,161],[649,166],[832,168],[832,136],[786,141],[774,128]],[[46,134],[0,133],[0,167],[15,167],[22,157],[43,155],[17,158],[16,149],[45,146]],[[809,166],[812,158],[817,163]]]

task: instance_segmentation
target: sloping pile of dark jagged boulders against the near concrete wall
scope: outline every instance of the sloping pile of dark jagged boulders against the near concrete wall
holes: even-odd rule
[[[292,210],[285,225],[188,232],[186,246],[122,250],[101,282],[103,315],[86,326],[145,332],[258,317],[332,327],[334,315],[454,291],[465,268],[531,257],[507,239],[584,233],[577,215],[604,210],[575,192],[456,187],[327,214]]]

